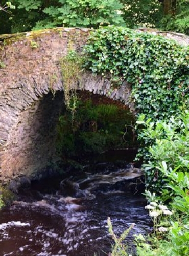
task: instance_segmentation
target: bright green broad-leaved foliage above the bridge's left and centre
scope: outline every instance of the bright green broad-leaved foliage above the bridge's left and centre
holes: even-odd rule
[[[4,1],[3,1],[4,2]],[[6,2],[5,2],[6,3]],[[14,0],[16,10],[3,14],[1,33],[53,27],[125,25],[119,0]]]

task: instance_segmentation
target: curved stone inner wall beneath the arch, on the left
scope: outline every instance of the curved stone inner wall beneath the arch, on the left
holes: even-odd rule
[[[63,92],[49,93],[20,112],[1,158],[4,182],[18,174],[34,178],[37,170],[56,161],[56,123],[62,105]]]

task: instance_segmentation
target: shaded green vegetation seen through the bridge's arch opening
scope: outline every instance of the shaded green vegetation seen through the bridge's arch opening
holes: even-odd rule
[[[70,99],[72,107],[73,98]],[[92,100],[81,100],[72,111],[66,110],[59,118],[57,126],[57,148],[60,154],[75,156],[79,153],[101,153],[116,147],[125,147],[133,142],[132,131],[126,136],[125,123],[134,123],[133,117],[125,109],[115,105],[96,104]]]

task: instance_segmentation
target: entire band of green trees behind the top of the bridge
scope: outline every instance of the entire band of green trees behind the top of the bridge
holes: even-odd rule
[[[0,8],[13,6],[1,12],[0,33],[114,24],[189,34],[189,0],[3,0]]]

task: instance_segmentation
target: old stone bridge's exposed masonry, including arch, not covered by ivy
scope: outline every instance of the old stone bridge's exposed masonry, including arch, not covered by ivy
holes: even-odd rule
[[[0,182],[3,184],[19,176],[35,178],[39,170],[56,161],[56,121],[64,103],[60,58],[70,45],[81,51],[88,34],[88,29],[56,28],[0,36]],[[161,34],[189,44],[184,35]],[[126,83],[110,93],[108,79],[86,72],[78,89],[119,100],[133,110],[129,101],[131,88]]]

